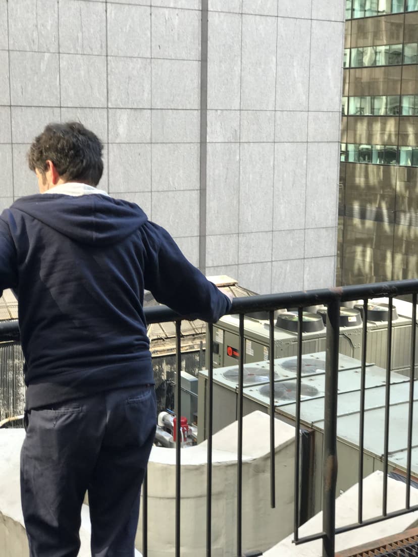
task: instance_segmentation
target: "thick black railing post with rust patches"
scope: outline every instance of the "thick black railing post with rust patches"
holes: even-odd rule
[[[323,448],[322,555],[334,557],[337,485],[337,397],[338,397],[339,299],[328,304],[327,356],[325,359],[325,404]]]

